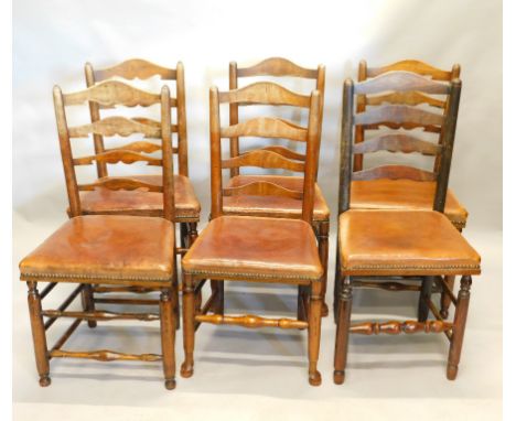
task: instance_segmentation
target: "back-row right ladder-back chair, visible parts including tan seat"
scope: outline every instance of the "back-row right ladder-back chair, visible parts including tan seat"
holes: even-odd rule
[[[454,64],[451,71],[442,71],[430,66],[423,62],[405,60],[381,67],[368,67],[366,61],[358,65],[358,82],[367,80],[372,77],[383,75],[387,72],[411,72],[421,76],[430,77],[432,80],[451,82],[461,76],[461,66]],[[427,104],[438,110],[443,110],[448,104],[448,97],[443,99],[423,97],[418,93],[385,94],[379,96],[358,95],[356,100],[356,112],[364,112],[366,109],[384,104],[395,105],[419,105]],[[378,125],[355,126],[355,143],[363,142],[368,132],[376,132]],[[439,133],[439,128],[426,126],[423,130],[430,133]],[[442,141],[442,138],[440,139]],[[363,169],[363,153],[354,155],[354,170]],[[434,169],[437,170],[438,161]],[[362,180],[352,182],[351,208],[364,209],[431,209],[436,191],[434,182],[415,183],[410,180],[381,179],[375,181]],[[461,205],[451,188],[447,192],[447,203],[444,215],[452,224],[462,231],[466,225],[467,210]],[[454,277],[447,277],[448,285],[454,288]],[[448,319],[450,300],[448,294],[441,294],[441,316]]]

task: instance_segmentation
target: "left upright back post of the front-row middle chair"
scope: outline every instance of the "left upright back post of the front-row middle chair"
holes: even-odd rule
[[[223,214],[222,192],[222,152],[221,152],[221,112],[218,89],[209,88],[209,151],[212,168],[212,218]]]

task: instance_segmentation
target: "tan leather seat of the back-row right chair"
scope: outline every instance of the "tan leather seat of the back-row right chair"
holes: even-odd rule
[[[436,195],[436,182],[412,180],[353,181],[352,209],[416,209],[431,210]],[[467,210],[451,190],[447,193],[444,214],[456,228],[464,228]]]

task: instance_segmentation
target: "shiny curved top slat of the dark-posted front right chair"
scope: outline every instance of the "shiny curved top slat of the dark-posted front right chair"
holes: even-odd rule
[[[379,94],[386,90],[405,93],[417,90],[424,94],[447,95],[450,93],[450,85],[441,82],[430,80],[423,76],[409,72],[389,72],[377,77],[359,82],[355,85],[355,93],[358,95]]]

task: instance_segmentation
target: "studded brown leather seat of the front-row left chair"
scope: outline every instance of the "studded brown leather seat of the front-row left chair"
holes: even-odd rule
[[[21,261],[21,279],[92,283],[170,281],[173,230],[173,224],[157,217],[77,216]]]

